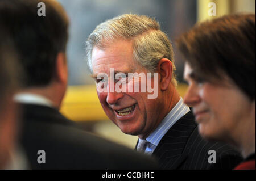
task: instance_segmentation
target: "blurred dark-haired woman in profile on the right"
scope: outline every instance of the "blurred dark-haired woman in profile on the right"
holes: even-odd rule
[[[201,136],[229,142],[255,169],[255,14],[197,24],[177,40],[184,55],[184,102],[193,107]]]

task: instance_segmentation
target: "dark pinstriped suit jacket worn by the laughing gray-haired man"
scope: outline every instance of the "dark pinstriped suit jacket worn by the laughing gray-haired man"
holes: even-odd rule
[[[216,151],[216,163],[208,163],[209,150]],[[233,169],[242,161],[240,153],[229,145],[204,140],[191,111],[169,129],[152,155],[161,169]]]

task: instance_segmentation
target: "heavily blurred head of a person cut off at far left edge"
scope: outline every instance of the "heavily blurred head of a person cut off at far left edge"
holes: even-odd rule
[[[0,169],[5,169],[14,149],[17,125],[13,95],[18,89],[19,66],[13,43],[0,22]]]

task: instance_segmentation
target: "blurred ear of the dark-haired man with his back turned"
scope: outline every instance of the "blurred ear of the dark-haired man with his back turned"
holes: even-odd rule
[[[68,81],[68,62],[65,53],[60,52],[56,57],[55,75],[56,81],[67,82]]]

